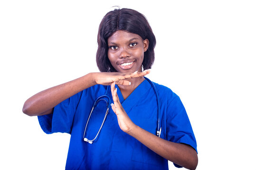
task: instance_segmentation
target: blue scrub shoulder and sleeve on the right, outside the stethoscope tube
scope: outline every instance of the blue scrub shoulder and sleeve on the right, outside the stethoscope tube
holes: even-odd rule
[[[188,144],[197,152],[197,143],[189,117],[180,97],[170,88],[154,83],[159,93],[161,105],[161,137],[174,143]],[[176,167],[180,165],[173,163]]]

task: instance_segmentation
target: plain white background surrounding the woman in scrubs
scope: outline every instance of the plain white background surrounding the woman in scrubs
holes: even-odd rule
[[[98,26],[115,5],[138,10],[152,26],[148,77],[185,105],[197,170],[256,170],[254,0],[1,0],[0,169],[65,168],[70,136],[44,134],[22,106],[39,91],[98,71]]]

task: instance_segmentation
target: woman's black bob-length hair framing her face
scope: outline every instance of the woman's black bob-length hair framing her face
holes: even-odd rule
[[[109,49],[107,40],[118,30],[138,34],[143,40],[149,40],[149,47],[144,52],[142,67],[144,70],[151,68],[155,59],[155,35],[145,16],[136,10],[122,8],[108,12],[100,23],[97,37],[98,50],[96,53],[96,63],[99,70],[101,72],[117,72],[107,56]]]

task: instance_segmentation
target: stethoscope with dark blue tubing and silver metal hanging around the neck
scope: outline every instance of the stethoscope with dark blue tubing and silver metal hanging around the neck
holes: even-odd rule
[[[152,82],[150,79],[148,79],[147,77],[144,77],[144,78],[145,78],[146,80],[148,80],[148,82],[151,84],[151,86],[153,87],[154,92],[155,92],[155,94],[156,94],[156,101],[157,101],[157,130],[156,130],[156,135],[157,135],[158,137],[160,137],[160,135],[161,135],[161,129],[162,129],[162,128],[160,127],[160,114],[161,114],[161,109],[160,109],[159,96],[158,96],[156,87],[155,87],[155,85],[153,84],[153,82]],[[105,94],[102,95],[102,96],[100,96],[100,97],[98,97],[98,98],[95,100],[95,102],[94,102],[94,104],[93,104],[93,107],[92,107],[92,110],[91,110],[91,112],[90,112],[90,115],[89,115],[89,117],[88,117],[88,119],[87,119],[87,122],[86,122],[86,125],[85,125],[85,131],[86,131],[86,128],[87,128],[89,119],[90,119],[90,117],[91,117],[91,115],[92,115],[92,112],[93,112],[95,106],[97,105],[97,103],[100,102],[100,101],[106,102],[106,109],[107,109],[107,110],[106,110],[104,119],[103,119],[103,121],[102,121],[101,127],[100,127],[100,129],[99,129],[97,135],[95,136],[95,138],[92,139],[92,140],[89,140],[89,139],[85,138],[85,131],[84,131],[84,136],[83,136],[83,137],[84,137],[84,141],[85,141],[85,142],[88,142],[89,144],[92,144],[93,141],[94,141],[94,140],[97,138],[97,136],[99,135],[99,133],[100,133],[100,131],[101,131],[101,128],[103,127],[103,124],[104,124],[105,119],[106,119],[106,117],[107,117],[108,110],[109,110],[109,108],[110,108],[110,106],[111,106],[110,97],[107,95],[108,89],[109,89],[109,85],[107,86],[107,90],[106,90]]]

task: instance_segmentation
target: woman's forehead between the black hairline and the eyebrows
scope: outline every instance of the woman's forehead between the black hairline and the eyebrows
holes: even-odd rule
[[[120,41],[130,41],[130,40],[141,40],[142,41],[142,37],[138,34],[133,34],[133,33],[129,33],[123,30],[118,30],[116,32],[114,32],[114,34],[112,34],[108,39],[108,43],[110,42],[120,42]]]

